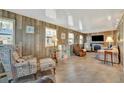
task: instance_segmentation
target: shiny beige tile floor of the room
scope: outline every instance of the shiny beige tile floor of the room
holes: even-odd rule
[[[57,83],[123,83],[124,72],[120,65],[103,64],[95,58],[95,53],[88,52],[85,57],[72,56],[60,61],[56,67],[55,79]],[[42,75],[51,74],[50,71]],[[39,75],[38,78],[42,76]],[[28,76],[18,82],[32,82],[33,77]]]

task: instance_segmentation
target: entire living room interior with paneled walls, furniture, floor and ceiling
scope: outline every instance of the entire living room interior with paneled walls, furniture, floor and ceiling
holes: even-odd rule
[[[123,10],[1,9],[0,82],[124,82],[123,21]]]

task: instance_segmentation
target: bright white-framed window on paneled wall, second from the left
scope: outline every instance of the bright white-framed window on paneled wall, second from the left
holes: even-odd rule
[[[46,37],[45,37],[45,46],[54,46],[57,45],[57,40],[53,41],[53,38],[57,38],[56,29],[46,28]]]

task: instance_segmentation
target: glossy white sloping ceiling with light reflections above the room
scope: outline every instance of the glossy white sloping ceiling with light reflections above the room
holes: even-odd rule
[[[8,11],[71,28],[83,33],[116,29],[124,13],[124,10],[120,9],[8,9]],[[69,19],[73,21],[71,26],[68,24],[68,16],[71,16]],[[108,16],[110,20],[108,20]],[[79,26],[79,20],[80,23],[82,23],[82,27],[80,27],[81,24]],[[82,30],[80,28],[82,28]]]

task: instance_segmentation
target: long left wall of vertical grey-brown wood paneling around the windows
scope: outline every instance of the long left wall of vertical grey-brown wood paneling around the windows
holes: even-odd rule
[[[23,55],[34,55],[38,58],[49,56],[52,47],[45,47],[45,27],[57,29],[58,44],[68,44],[69,32],[74,33],[75,43],[79,43],[79,35],[84,35],[83,33],[68,28],[39,21],[6,10],[0,10],[0,17],[15,20],[15,44],[22,43]],[[27,25],[34,26],[34,34],[26,33]],[[66,34],[65,40],[61,40],[60,35],[62,32]]]

